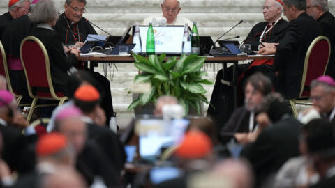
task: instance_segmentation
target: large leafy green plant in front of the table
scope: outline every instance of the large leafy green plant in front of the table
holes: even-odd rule
[[[140,94],[138,99],[129,105],[128,111],[149,102],[155,103],[162,95],[177,97],[179,104],[185,109],[185,114],[188,114],[191,106],[200,115],[201,102],[209,103],[204,96],[206,90],[201,85],[212,84],[211,81],[202,79],[207,75],[201,70],[205,57],[182,55],[179,59],[174,56],[167,61],[165,61],[165,54],[150,55],[149,58],[140,55],[133,55],[133,57],[135,67],[143,72],[135,77],[134,83],[149,82],[151,91]]]

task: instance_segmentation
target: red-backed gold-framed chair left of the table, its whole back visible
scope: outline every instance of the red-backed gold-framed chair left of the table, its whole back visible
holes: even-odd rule
[[[54,105],[61,105],[65,100],[68,100],[68,97],[64,93],[54,91],[49,56],[43,43],[38,38],[34,36],[24,38],[20,46],[20,56],[27,78],[28,93],[34,99],[27,116],[27,121],[30,122],[34,108],[43,107],[43,105],[36,105],[38,99],[58,100],[58,104]],[[43,88],[43,91],[38,89],[34,94],[33,88]]]

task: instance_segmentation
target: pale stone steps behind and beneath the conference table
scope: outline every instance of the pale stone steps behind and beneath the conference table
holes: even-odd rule
[[[0,14],[6,13],[9,0],[0,1]],[[60,13],[64,11],[65,0],[54,0]],[[187,17],[192,22],[198,23],[200,36],[211,36],[215,41],[218,36],[228,31],[239,20],[242,24],[230,31],[224,38],[240,36],[239,41],[244,40],[251,27],[263,20],[262,3],[264,0],[179,0],[181,2],[181,16]],[[129,25],[142,23],[142,20],[153,14],[161,13],[160,4],[163,0],[87,0],[87,13],[84,17],[94,24],[118,36],[124,33]],[[329,0],[331,12],[335,13],[335,0]],[[103,31],[96,29],[98,33]],[[137,74],[132,64],[117,64],[116,68],[107,70],[107,78],[110,79],[114,110],[117,111],[118,123],[126,125],[133,117],[133,112],[126,111],[131,103],[131,95],[127,95],[127,88],[133,83],[133,77]],[[103,74],[103,65],[96,68]],[[221,65],[205,65],[208,79],[214,81],[218,67]],[[210,99],[213,86],[206,86],[207,98]],[[207,111],[207,107],[205,107]]]

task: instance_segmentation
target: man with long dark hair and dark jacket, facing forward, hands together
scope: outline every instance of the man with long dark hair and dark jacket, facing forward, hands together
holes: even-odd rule
[[[256,73],[246,80],[244,88],[245,104],[232,113],[222,129],[220,130],[219,139],[223,143],[227,143],[230,139],[235,138],[242,141],[249,132],[256,132],[258,124],[256,116],[260,110],[263,97],[273,91],[273,85],[268,77],[261,73]]]

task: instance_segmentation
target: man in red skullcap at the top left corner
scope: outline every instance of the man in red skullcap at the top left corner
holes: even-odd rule
[[[29,0],[10,0],[8,3],[8,12],[0,16],[0,40],[7,24],[13,19],[28,13],[30,6]]]

